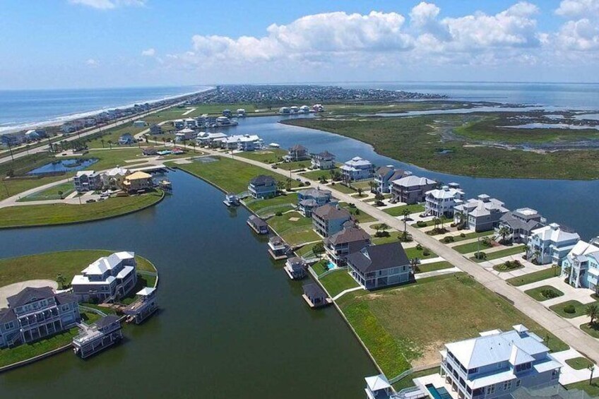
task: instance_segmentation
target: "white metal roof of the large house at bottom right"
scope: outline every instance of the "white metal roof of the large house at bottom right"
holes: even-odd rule
[[[517,347],[515,354],[513,354],[514,346]],[[505,333],[489,333],[478,338],[449,343],[445,347],[466,369],[511,360],[520,362],[528,357],[549,351],[549,348],[543,345],[536,335],[518,333],[516,330],[509,330]]]

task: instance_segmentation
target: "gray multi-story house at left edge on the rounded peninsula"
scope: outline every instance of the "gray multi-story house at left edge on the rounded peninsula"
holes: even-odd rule
[[[68,330],[81,320],[74,295],[50,287],[25,287],[0,309],[0,347],[13,347]]]

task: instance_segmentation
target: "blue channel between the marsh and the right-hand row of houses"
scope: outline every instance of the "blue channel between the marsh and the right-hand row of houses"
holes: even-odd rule
[[[300,116],[291,118],[298,117]],[[461,185],[469,198],[480,193],[487,193],[504,201],[509,209],[524,206],[534,208],[547,220],[576,230],[583,239],[591,239],[599,234],[599,213],[595,211],[598,204],[597,198],[599,198],[598,180],[485,179],[432,172],[422,167],[400,162],[401,160],[393,160],[376,154],[372,145],[352,138],[278,123],[283,118],[288,117],[240,119],[238,126],[228,128],[224,132],[231,134],[254,133],[259,135],[264,143],[278,143],[281,148],[301,143],[308,148],[310,153],[328,150],[337,156],[339,162],[359,156],[370,160],[377,166],[395,165],[422,177],[429,177],[445,183],[455,181]],[[480,162],[485,162],[485,160]],[[535,165],[530,165],[530,167],[534,168]]]

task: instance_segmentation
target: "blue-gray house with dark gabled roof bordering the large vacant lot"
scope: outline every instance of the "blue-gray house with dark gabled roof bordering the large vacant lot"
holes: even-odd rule
[[[345,261],[352,278],[367,290],[408,282],[414,274],[400,242],[364,246]]]

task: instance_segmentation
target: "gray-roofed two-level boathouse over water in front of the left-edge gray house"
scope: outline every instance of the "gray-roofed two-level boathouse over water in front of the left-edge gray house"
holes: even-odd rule
[[[81,332],[73,338],[75,353],[85,359],[119,342],[123,338],[120,320],[110,314],[90,326],[81,325]]]

